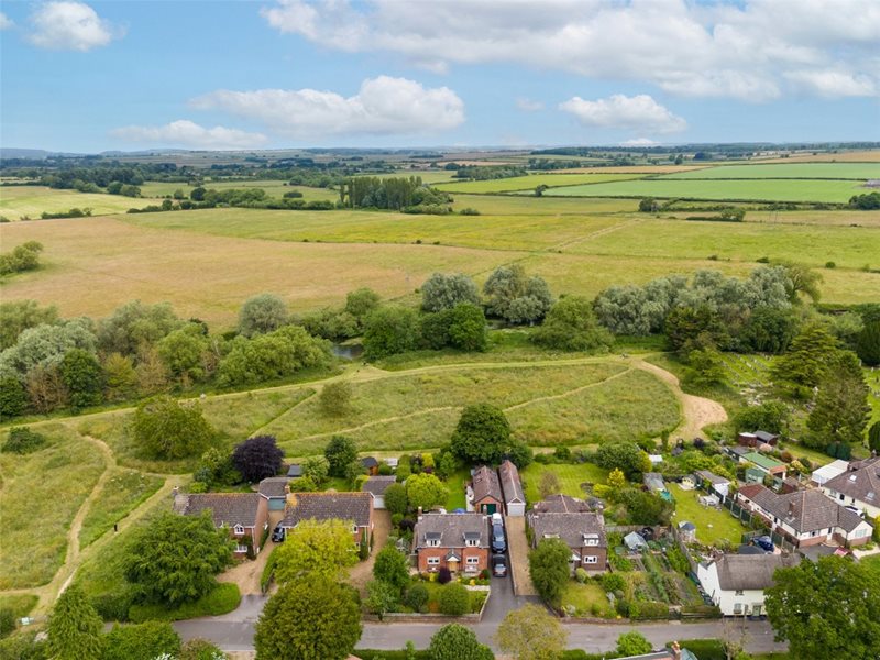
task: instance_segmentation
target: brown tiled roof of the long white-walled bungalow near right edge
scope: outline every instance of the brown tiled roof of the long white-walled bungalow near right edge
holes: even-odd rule
[[[748,491],[748,492],[747,492]],[[739,493],[766,512],[782,520],[798,534],[839,527],[853,531],[862,519],[816,490],[777,495],[771,490],[754,484]]]

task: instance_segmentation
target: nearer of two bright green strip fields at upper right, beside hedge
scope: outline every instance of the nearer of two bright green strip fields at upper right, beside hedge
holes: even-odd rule
[[[703,170],[701,170],[703,172]],[[870,193],[854,180],[804,179],[634,179],[592,186],[565,186],[544,191],[548,196],[658,197],[661,199],[828,201],[847,202],[854,195]]]

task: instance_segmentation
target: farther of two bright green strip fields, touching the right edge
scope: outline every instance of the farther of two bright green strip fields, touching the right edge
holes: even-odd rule
[[[761,179],[761,178],[825,178],[857,179],[880,178],[877,163],[792,163],[766,165],[722,165],[707,169],[668,174],[663,179]]]

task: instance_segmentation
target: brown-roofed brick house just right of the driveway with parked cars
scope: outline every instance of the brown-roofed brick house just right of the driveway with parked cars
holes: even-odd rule
[[[568,499],[579,502],[573,497]],[[561,539],[571,549],[572,572],[575,569],[592,573],[604,572],[608,563],[604,517],[592,512],[556,513],[557,505],[569,505],[565,499],[539,507],[540,504],[536,504],[526,515],[532,532],[532,546],[537,547],[542,539]]]

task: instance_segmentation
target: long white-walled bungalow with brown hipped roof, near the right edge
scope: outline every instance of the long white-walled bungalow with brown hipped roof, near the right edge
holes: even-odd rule
[[[873,531],[858,514],[814,488],[778,495],[761,484],[750,484],[739,488],[736,502],[796,548],[822,543],[861,546]]]

